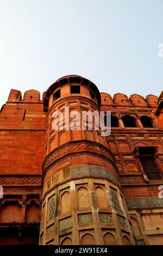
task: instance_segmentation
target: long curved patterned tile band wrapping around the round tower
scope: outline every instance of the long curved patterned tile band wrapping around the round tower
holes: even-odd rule
[[[98,176],[99,178],[108,179],[109,181],[114,182],[114,184],[116,184],[118,187],[121,187],[116,175],[102,166],[94,166],[91,164],[85,164],[83,166],[73,166],[72,177],[73,176]]]

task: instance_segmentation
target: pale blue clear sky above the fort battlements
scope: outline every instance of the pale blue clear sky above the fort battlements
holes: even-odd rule
[[[159,96],[163,0],[0,0],[0,106],[84,76],[111,95]]]

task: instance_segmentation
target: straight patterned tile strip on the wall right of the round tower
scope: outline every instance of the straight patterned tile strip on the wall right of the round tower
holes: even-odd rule
[[[128,209],[163,208],[163,200],[158,197],[125,198]]]

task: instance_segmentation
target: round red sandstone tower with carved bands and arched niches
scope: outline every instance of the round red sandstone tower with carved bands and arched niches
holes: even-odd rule
[[[82,112],[100,111],[98,88],[84,77],[61,77],[47,90],[46,152],[40,245],[135,244],[115,159],[100,131],[89,130]],[[69,109],[70,120],[65,118]],[[54,113],[62,113],[62,129],[54,130]],[[67,129],[73,124],[76,129]],[[95,121],[96,122],[96,121]],[[94,122],[94,123],[95,123]],[[60,125],[60,124],[59,124]]]

